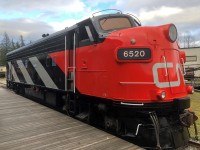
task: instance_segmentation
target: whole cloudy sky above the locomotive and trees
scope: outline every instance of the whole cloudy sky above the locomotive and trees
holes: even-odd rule
[[[132,13],[142,25],[174,23],[200,41],[200,0],[0,0],[0,38],[7,32],[35,41],[103,9]]]

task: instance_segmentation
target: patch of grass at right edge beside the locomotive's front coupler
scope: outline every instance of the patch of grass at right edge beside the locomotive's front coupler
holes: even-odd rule
[[[198,116],[198,120],[196,121],[197,129],[198,129],[198,137],[200,136],[200,93],[195,92],[194,94],[189,95],[191,99],[191,107],[190,110],[194,111]],[[194,134],[194,126],[189,128],[191,137],[195,137]]]

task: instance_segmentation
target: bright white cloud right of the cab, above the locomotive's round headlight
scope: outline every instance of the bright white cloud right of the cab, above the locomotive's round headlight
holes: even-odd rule
[[[161,25],[174,23],[178,32],[190,32],[196,39],[200,39],[200,6],[188,8],[161,7],[149,12],[141,11],[139,18],[144,25]]]

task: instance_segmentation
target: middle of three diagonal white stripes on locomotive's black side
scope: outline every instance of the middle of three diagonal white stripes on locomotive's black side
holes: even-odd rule
[[[26,83],[34,84],[33,80],[31,79],[31,77],[30,77],[30,75],[28,73],[28,71],[26,70],[26,67],[24,66],[22,60],[17,60],[17,64],[18,64],[18,66],[19,66],[19,68],[20,68],[20,70],[21,70],[21,72],[22,72],[22,74],[24,76],[24,79],[26,80]]]

